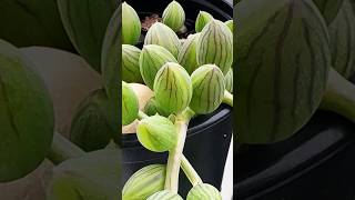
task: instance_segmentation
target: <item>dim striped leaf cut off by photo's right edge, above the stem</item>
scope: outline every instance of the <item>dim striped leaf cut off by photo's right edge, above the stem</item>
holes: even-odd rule
[[[343,6],[328,27],[331,36],[332,66],[343,77],[355,73],[355,14],[349,0]]]

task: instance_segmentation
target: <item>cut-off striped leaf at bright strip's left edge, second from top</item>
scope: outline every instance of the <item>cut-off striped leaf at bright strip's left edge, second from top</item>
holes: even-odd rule
[[[141,50],[134,46],[122,44],[122,80],[125,82],[143,82],[140,72]]]

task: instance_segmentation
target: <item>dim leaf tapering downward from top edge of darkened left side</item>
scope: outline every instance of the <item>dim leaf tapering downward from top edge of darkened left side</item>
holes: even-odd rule
[[[102,41],[118,3],[97,0],[58,0],[64,29],[78,52],[101,70]]]

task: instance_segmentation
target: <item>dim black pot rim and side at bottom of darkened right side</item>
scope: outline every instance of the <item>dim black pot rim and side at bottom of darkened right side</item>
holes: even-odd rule
[[[234,193],[239,200],[354,199],[355,126],[318,111],[288,140],[242,146],[236,157]],[[346,166],[342,166],[346,163]],[[335,173],[335,174],[332,174]],[[344,180],[347,180],[344,181]],[[351,192],[349,194],[349,191]]]

